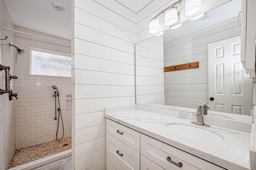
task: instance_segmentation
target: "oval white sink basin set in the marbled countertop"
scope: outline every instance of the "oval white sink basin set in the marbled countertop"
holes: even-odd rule
[[[197,141],[222,141],[224,137],[208,127],[187,123],[167,123],[165,130],[176,135],[186,137]],[[167,133],[167,132],[166,132]]]

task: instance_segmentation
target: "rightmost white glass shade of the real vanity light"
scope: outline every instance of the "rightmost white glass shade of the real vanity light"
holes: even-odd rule
[[[192,16],[199,12],[202,8],[202,0],[186,0],[185,15]]]

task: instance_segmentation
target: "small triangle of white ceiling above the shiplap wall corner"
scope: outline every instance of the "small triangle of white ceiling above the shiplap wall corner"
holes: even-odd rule
[[[135,14],[140,12],[145,6],[150,4],[153,0],[115,0],[116,2],[119,2]]]

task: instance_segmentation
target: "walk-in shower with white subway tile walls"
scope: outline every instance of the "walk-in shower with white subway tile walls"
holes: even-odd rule
[[[13,25],[12,20],[9,19],[10,16],[8,14],[8,11],[6,10],[4,2],[2,2],[2,4],[0,5],[1,16],[3,16],[3,19],[1,21],[2,27],[8,27],[10,29],[22,32],[56,39],[56,37],[52,35],[46,35],[44,33]],[[24,150],[24,148],[34,145],[45,146],[44,143],[57,142],[55,140],[58,119],[54,120],[55,98],[52,95],[54,95],[55,90],[52,88],[52,85],[57,86],[60,91],[60,107],[64,122],[64,141],[60,141],[59,144],[62,142],[66,142],[69,143],[69,145],[65,148],[61,145],[54,152],[50,152],[50,154],[55,154],[56,152],[62,152],[63,149],[66,150],[71,148],[71,78],[30,75],[29,50],[30,47],[34,47],[48,51],[55,51],[58,53],[70,54],[71,46],[70,44],[52,42],[45,39],[38,39],[28,35],[13,33],[4,30],[2,30],[0,34],[3,36],[8,35],[8,41],[2,41],[2,45],[3,43],[10,42],[11,44],[16,45],[20,49],[26,50],[24,54],[18,55],[17,63],[15,63],[15,55],[13,52],[14,49],[8,46],[2,46],[1,64],[10,66],[10,73],[12,75],[18,76],[18,79],[11,80],[10,82],[12,90],[15,93],[18,92],[18,100],[14,98],[12,101],[9,101],[7,94],[0,96],[0,101],[2,105],[1,115],[4,116],[1,117],[0,122],[0,147],[3,151],[0,152],[0,169],[2,170],[9,167],[9,163],[12,159],[15,149]],[[58,37],[58,39],[60,38]],[[2,72],[2,75],[4,75],[4,72]],[[3,84],[4,78],[2,78],[1,80],[1,88],[4,89]],[[3,135],[2,131],[4,132]],[[60,121],[58,138],[61,137],[62,124]],[[67,139],[69,139],[70,142],[67,142]],[[49,154],[49,150],[46,150],[45,153],[42,152],[43,150],[40,148],[38,148],[37,150],[40,150],[40,154],[38,154],[38,157],[35,156],[34,158],[39,159],[42,155],[48,156]],[[20,155],[22,155],[22,157],[26,157],[25,154]],[[14,158],[18,160],[18,157],[16,156],[14,155]],[[22,161],[22,163],[24,163],[24,161]],[[10,167],[14,167],[14,164]]]

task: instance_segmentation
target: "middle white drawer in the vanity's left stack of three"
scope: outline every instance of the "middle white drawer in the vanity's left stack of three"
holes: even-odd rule
[[[140,169],[140,154],[108,133],[107,154],[125,170]]]

